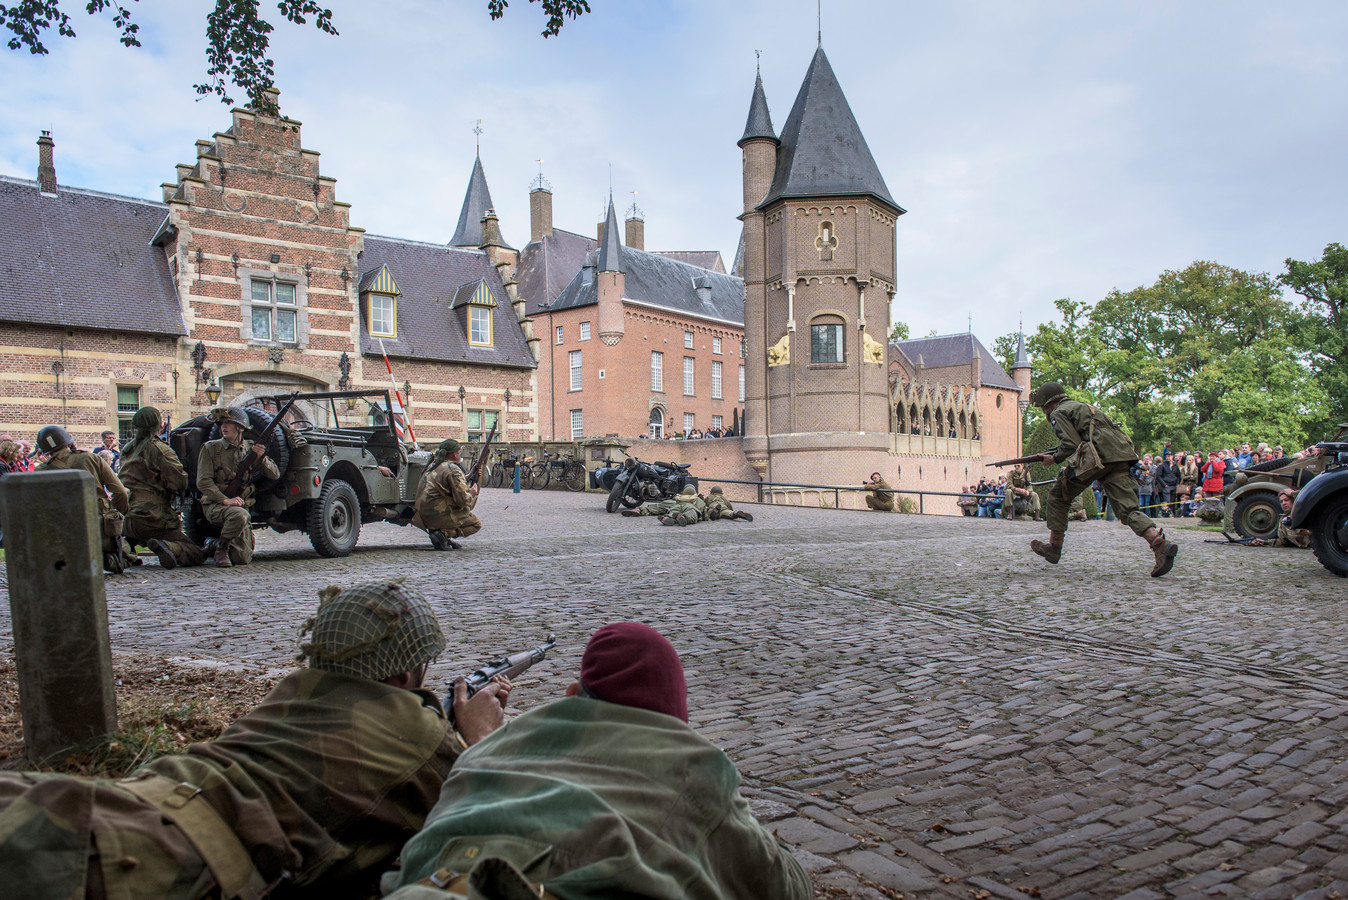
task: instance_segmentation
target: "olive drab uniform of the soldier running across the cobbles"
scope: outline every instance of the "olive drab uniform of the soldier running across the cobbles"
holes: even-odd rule
[[[1091,406],[1078,400],[1064,399],[1049,416],[1053,432],[1058,435],[1058,449],[1053,451],[1055,462],[1064,462],[1077,451],[1077,447],[1091,435],[1091,426],[1095,424],[1095,443],[1100,450],[1100,462],[1105,470],[1096,480],[1109,497],[1109,505],[1119,521],[1142,535],[1148,528],[1155,528],[1157,523],[1138,509],[1138,484],[1128,476],[1128,466],[1138,461],[1138,451],[1132,446],[1132,439],[1116,426],[1109,418]],[[1051,531],[1068,529],[1068,508],[1072,499],[1081,494],[1091,486],[1088,481],[1076,478],[1074,470],[1068,466],[1058,473],[1058,480],[1049,492],[1049,528]]]

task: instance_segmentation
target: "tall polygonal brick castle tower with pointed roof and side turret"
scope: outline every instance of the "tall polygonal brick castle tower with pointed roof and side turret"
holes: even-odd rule
[[[758,82],[740,139],[745,455],[772,481],[817,481],[838,468],[887,472],[886,323],[905,210],[822,47],[782,128],[766,190],[762,166],[775,140],[760,100]]]

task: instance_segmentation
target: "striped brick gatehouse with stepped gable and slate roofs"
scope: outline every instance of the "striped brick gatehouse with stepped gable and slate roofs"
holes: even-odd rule
[[[55,422],[90,445],[104,428],[125,432],[142,404],[175,422],[200,414],[214,406],[208,391],[241,406],[391,387],[381,341],[423,442],[507,414],[511,437],[534,437],[518,255],[495,213],[479,216],[476,248],[367,237],[299,123],[232,117],[197,141],[159,202],[59,186],[49,135],[38,182],[0,179],[0,427],[31,435]],[[480,206],[480,172],[479,162],[465,214]],[[301,415],[325,424],[329,414]]]

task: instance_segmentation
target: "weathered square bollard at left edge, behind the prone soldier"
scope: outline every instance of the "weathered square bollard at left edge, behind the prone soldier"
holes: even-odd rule
[[[80,469],[0,478],[19,711],[32,763],[117,729],[97,489]]]

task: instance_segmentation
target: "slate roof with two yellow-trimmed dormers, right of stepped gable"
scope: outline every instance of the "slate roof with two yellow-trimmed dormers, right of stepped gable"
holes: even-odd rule
[[[387,265],[402,295],[398,298],[398,337],[384,338],[388,356],[438,362],[470,362],[531,369],[524,331],[515,318],[500,274],[487,253],[423,244],[396,237],[365,236],[360,275]],[[496,299],[493,346],[468,344],[468,314],[452,310],[456,292],[465,284],[485,279]],[[363,309],[364,313],[364,309]],[[379,354],[379,341],[369,335],[369,322],[360,317],[360,349]]]

